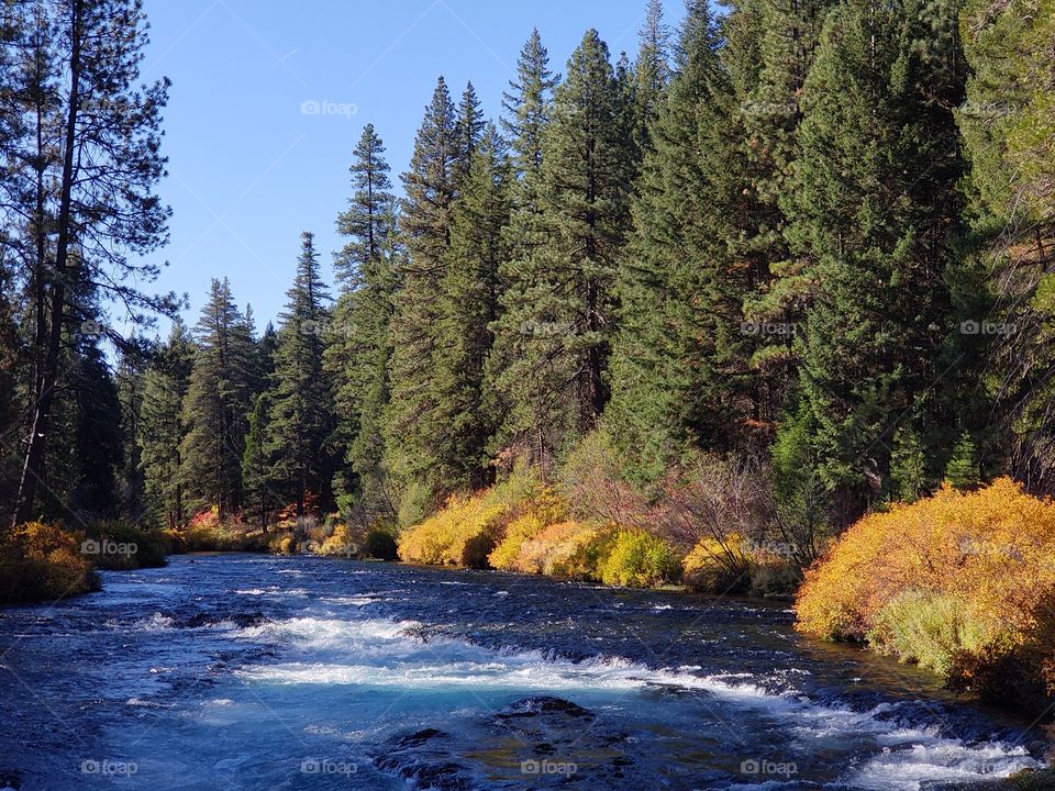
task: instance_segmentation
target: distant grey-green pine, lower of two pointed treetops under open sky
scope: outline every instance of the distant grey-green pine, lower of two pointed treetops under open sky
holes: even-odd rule
[[[252,348],[238,331],[244,321],[227,280],[213,279],[195,327],[179,478],[188,508],[214,506],[221,519],[242,506],[242,454],[252,402]]]

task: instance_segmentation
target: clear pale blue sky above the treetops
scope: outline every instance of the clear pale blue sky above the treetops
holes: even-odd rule
[[[424,105],[443,75],[473,81],[495,118],[517,55],[537,26],[555,70],[588,27],[612,51],[637,48],[645,0],[146,0],[143,76],[173,80],[165,112],[173,207],[156,290],[190,294],[197,320],[212,276],[227,275],[258,326],[281,310],[300,232],[313,231],[330,272],[334,220],[363,125],[406,169]],[[676,24],[681,0],[665,4]],[[333,114],[306,114],[330,102]],[[344,105],[344,107],[340,107]],[[163,333],[165,331],[163,330]]]

